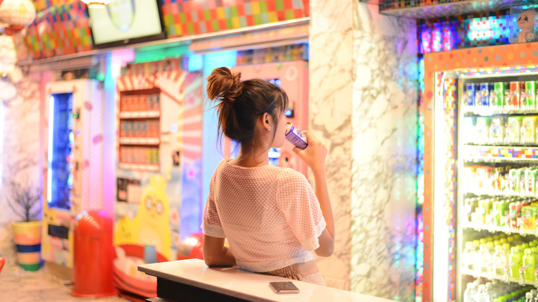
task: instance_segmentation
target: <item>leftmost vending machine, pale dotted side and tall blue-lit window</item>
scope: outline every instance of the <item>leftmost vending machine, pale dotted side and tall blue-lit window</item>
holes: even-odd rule
[[[72,269],[74,217],[103,208],[103,88],[92,79],[46,85],[42,255]]]

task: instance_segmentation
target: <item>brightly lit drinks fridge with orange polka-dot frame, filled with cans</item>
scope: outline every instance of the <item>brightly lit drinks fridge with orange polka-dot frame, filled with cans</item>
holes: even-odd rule
[[[537,49],[424,56],[424,302],[536,295]]]

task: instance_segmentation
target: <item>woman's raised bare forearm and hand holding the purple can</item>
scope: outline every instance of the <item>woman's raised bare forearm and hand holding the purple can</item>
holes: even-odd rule
[[[328,257],[335,249],[335,219],[332,217],[332,207],[330,205],[329,191],[325,174],[325,158],[327,148],[314,134],[303,131],[308,139],[308,147],[301,150],[293,148],[295,152],[312,170],[315,180],[315,194],[319,201],[319,208],[327,224],[326,228],[318,237],[319,248],[315,250],[318,256]]]

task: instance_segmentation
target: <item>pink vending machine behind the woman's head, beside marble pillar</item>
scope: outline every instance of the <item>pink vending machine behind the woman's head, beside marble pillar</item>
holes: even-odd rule
[[[288,61],[281,63],[261,63],[236,66],[232,72],[241,72],[241,80],[266,79],[275,83],[288,94],[289,105],[284,114],[288,121],[301,130],[308,129],[308,62]],[[270,150],[270,163],[281,167],[289,167],[306,176],[307,165],[292,151],[294,145],[286,141],[279,149]],[[230,155],[230,143],[225,145]]]

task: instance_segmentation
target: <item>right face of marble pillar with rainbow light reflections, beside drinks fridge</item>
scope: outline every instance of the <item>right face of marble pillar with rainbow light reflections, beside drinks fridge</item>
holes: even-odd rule
[[[354,12],[350,290],[414,301],[416,23]]]

